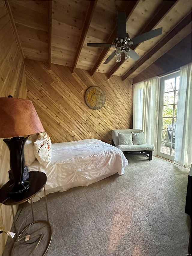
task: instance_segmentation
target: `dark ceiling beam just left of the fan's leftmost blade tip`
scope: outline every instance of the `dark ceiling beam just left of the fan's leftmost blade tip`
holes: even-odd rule
[[[89,28],[89,25],[91,23],[91,19],[93,17],[93,12],[95,10],[96,4],[97,4],[96,0],[90,0],[89,8],[88,8],[88,11],[87,11],[87,15],[85,17],[85,21],[84,21],[84,25],[83,25],[83,28],[82,28],[81,36],[80,36],[79,43],[78,43],[76,53],[75,53],[75,58],[73,60],[73,65],[72,65],[72,68],[71,68],[72,74],[74,74],[74,69],[77,65],[77,61],[79,59],[79,55],[81,53],[81,49],[83,47],[85,37],[86,37],[87,32],[88,32],[88,28]]]

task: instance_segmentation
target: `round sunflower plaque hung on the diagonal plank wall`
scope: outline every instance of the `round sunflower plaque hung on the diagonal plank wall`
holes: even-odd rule
[[[85,102],[91,109],[98,110],[105,105],[105,94],[98,86],[91,86],[85,93]]]

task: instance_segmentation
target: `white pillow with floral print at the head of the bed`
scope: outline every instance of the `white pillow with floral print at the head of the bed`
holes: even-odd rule
[[[52,157],[52,149],[49,141],[42,137],[41,134],[39,134],[37,140],[34,143],[33,149],[39,163],[43,164],[45,167],[48,167],[48,165],[51,163]]]

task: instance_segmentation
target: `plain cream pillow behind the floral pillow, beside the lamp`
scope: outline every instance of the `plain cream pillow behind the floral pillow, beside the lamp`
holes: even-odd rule
[[[36,159],[33,151],[33,145],[37,137],[38,137],[37,134],[32,134],[26,140],[26,143],[24,146],[24,156],[25,156],[26,166],[29,166],[30,164],[32,164]]]

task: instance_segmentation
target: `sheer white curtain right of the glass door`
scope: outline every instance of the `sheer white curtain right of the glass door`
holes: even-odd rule
[[[181,67],[174,163],[189,168],[192,162],[192,65]]]

